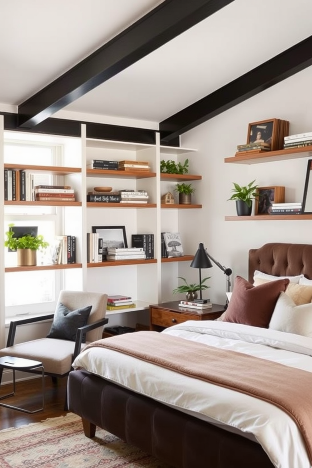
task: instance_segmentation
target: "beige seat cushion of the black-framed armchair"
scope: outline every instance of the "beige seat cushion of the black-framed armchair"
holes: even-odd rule
[[[86,345],[87,343],[82,343],[81,349]],[[42,362],[45,373],[62,376],[71,370],[74,348],[74,341],[40,338],[28,341],[27,343],[14,344],[8,348],[2,348],[0,356],[34,359],[35,361]]]

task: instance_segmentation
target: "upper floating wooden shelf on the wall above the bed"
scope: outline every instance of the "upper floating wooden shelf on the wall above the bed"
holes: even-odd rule
[[[267,153],[244,154],[225,158],[224,162],[234,162],[238,164],[258,164],[261,162],[284,161],[287,159],[307,158],[312,156],[312,146],[302,148],[280,149],[268,151]]]

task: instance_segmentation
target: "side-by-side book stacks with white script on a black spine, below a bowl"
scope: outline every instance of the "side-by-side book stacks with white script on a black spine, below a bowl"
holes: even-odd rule
[[[111,192],[91,191],[87,194],[87,202],[94,203],[148,203],[148,193],[146,190],[116,190]]]

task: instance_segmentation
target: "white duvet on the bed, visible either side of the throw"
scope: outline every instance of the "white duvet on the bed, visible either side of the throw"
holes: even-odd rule
[[[188,321],[162,333],[312,373],[312,338],[214,321]],[[297,424],[268,402],[99,347],[82,351],[73,367],[82,367],[227,430],[239,431],[258,441],[276,468],[312,468]]]

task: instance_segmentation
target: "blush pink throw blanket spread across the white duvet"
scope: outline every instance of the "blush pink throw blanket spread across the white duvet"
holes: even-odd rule
[[[122,352],[275,404],[297,423],[312,461],[312,373],[152,331],[98,340],[83,351],[94,346]]]

